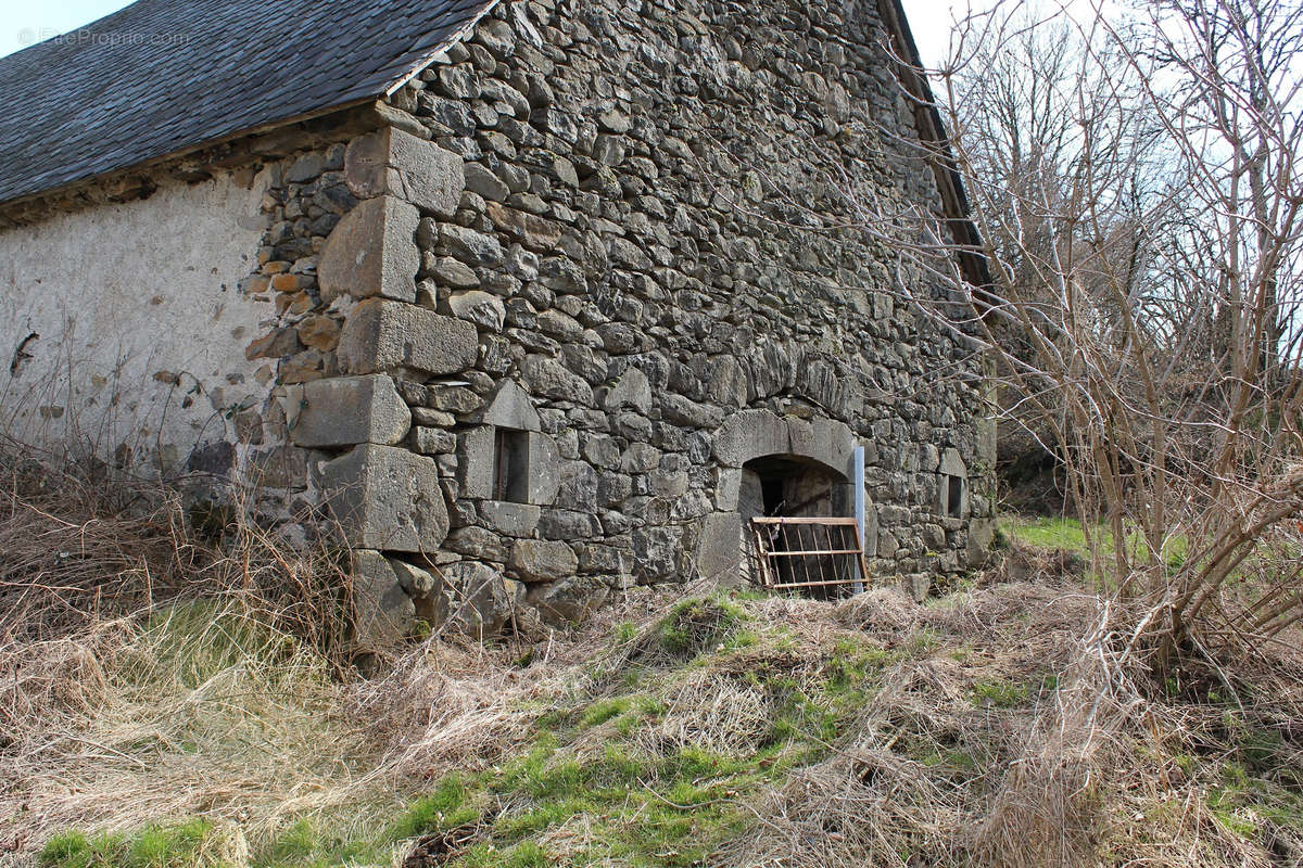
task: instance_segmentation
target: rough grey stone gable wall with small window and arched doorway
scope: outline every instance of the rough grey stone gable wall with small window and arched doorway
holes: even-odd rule
[[[322,282],[362,299],[353,376],[302,418],[361,409],[322,484],[392,629],[735,571],[769,455],[844,487],[865,448],[874,573],[917,588],[981,556],[979,362],[853,225],[856,202],[939,202],[880,131],[912,135],[911,111],[873,8],[847,8],[502,4],[395,94],[400,129],[351,144],[371,198]],[[438,202],[403,181],[427,172]]]

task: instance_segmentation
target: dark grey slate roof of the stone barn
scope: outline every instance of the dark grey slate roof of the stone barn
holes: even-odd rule
[[[0,59],[0,202],[383,95],[494,0],[138,0]]]

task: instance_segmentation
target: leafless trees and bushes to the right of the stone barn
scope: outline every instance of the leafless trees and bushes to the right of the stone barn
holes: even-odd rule
[[[1002,4],[954,47],[928,159],[977,232],[894,215],[896,292],[1065,462],[1092,573],[1149,612],[1128,653],[1165,674],[1278,640],[1303,616],[1278,557],[1303,545],[1303,8]]]

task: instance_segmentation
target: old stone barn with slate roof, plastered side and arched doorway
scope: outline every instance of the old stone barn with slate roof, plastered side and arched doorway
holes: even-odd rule
[[[257,485],[353,549],[364,645],[741,580],[760,515],[861,502],[870,571],[916,592],[984,557],[982,360],[872,225],[972,232],[898,0],[141,0],[91,30],[186,39],[0,60],[4,427]]]

